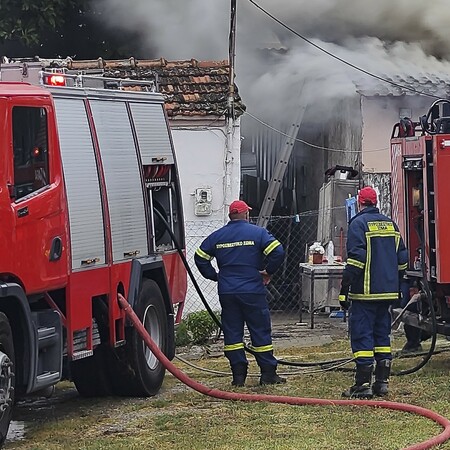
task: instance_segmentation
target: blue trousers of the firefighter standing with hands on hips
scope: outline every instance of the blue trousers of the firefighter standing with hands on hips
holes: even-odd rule
[[[252,349],[260,367],[277,366],[273,356],[272,324],[265,294],[222,294],[222,330],[225,356],[230,365],[247,364],[244,350],[244,324],[247,324]]]

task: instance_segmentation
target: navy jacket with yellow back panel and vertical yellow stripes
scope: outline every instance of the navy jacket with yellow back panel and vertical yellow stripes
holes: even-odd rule
[[[349,300],[397,300],[408,252],[397,225],[374,206],[350,221],[342,287]]]

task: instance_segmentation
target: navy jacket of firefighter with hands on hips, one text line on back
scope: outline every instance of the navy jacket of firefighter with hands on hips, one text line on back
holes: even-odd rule
[[[264,267],[266,257],[266,267]],[[216,258],[219,273],[211,264]],[[265,228],[232,220],[214,231],[195,252],[195,264],[207,279],[218,281],[221,294],[265,294],[260,270],[272,275],[282,264],[284,250]]]

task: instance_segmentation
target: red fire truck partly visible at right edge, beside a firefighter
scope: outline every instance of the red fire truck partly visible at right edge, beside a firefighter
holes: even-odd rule
[[[391,136],[392,216],[409,250],[407,278],[421,292],[403,321],[450,336],[450,102],[435,101],[418,122]]]

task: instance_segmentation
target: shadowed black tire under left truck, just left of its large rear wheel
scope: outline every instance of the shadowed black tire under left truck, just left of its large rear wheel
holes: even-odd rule
[[[70,363],[70,375],[82,397],[107,397],[112,394],[107,372],[109,348],[101,344],[88,358]]]

